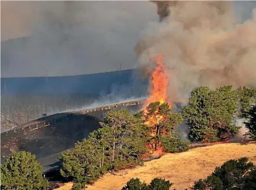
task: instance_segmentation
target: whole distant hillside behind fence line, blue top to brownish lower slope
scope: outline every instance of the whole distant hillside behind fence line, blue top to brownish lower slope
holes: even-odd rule
[[[92,103],[119,101],[147,94],[138,70],[63,77],[1,78],[1,127],[9,128],[42,114],[83,109]],[[129,90],[127,90],[129,89]],[[98,105],[98,106],[99,106]]]

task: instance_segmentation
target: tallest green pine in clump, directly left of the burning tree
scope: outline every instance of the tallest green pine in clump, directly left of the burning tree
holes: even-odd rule
[[[128,110],[118,109],[108,112],[100,124],[104,131],[102,138],[109,143],[107,150],[113,169],[142,162],[147,136],[141,118],[132,116]]]

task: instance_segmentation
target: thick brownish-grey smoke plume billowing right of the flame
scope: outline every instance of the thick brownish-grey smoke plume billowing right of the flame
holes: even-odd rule
[[[177,1],[169,12],[148,26],[136,51],[146,74],[151,57],[166,57],[170,99],[202,85],[256,87],[256,9],[239,24],[230,1]]]

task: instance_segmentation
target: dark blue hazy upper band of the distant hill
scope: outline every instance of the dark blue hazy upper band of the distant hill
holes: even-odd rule
[[[131,69],[79,76],[1,78],[1,96],[127,94],[126,89],[131,91],[127,96],[141,96],[141,93],[144,95],[147,93],[147,80],[142,80],[139,75],[139,70]],[[115,94],[115,96],[119,94]]]

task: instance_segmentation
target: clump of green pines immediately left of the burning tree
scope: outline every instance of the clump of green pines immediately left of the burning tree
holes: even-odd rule
[[[101,128],[90,133],[88,139],[61,154],[61,175],[79,184],[88,183],[106,171],[143,162],[147,135],[141,117],[118,109],[106,113],[104,122],[100,124]]]

